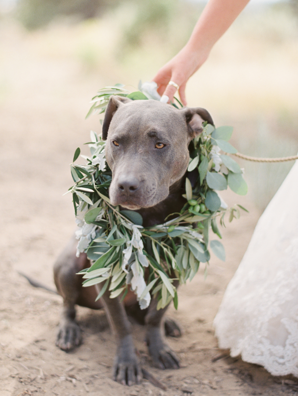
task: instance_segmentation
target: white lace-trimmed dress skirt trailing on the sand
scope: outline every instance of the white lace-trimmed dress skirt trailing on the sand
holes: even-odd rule
[[[214,326],[231,356],[298,377],[298,161],[261,216]]]

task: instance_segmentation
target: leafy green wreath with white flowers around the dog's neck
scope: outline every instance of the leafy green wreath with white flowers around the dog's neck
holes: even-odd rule
[[[133,100],[158,99],[156,89],[151,88],[148,83],[140,83],[140,90],[132,93],[122,84],[100,89],[92,99],[87,116],[94,111],[103,113],[113,94]],[[181,105],[178,100],[177,103]],[[240,205],[228,209],[217,191],[229,186],[237,194],[247,192],[239,165],[226,154],[220,154],[221,150],[237,152],[228,143],[231,134],[232,127],[215,129],[209,124],[204,126],[203,133],[189,145],[188,171],[197,169],[197,180],[192,187],[186,178],[183,195],[186,204],[174,219],[144,228],[139,213],[111,205],[108,189],[112,172],[105,160],[105,142],[91,131],[91,142],[88,143],[90,156],[81,156],[85,160],[83,165],[71,164],[75,184],[68,192],[73,194],[78,225],[77,255],[86,252],[91,261],[90,268],[80,271],[84,278],[83,286],[103,282],[97,299],[107,288],[110,298],[119,295],[124,298],[130,285],[141,309],[149,306],[151,295],[156,295],[159,300],[157,309],[165,307],[172,299],[177,309],[177,292],[168,273],[174,271],[176,279],[185,283],[192,280],[199,264],[205,263],[206,274],[209,246],[217,257],[225,260],[223,244],[218,239],[210,240],[209,231],[222,238],[218,219],[224,226],[226,214],[231,222],[239,217],[239,208],[246,209]],[[79,155],[78,148],[73,162]]]

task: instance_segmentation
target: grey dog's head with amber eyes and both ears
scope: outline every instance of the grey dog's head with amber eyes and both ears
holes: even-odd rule
[[[113,174],[112,204],[138,210],[163,201],[186,172],[188,144],[204,121],[213,124],[200,107],[178,110],[156,100],[111,96],[102,139]]]

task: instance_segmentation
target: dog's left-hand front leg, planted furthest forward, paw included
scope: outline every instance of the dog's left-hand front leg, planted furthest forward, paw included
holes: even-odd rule
[[[99,289],[100,289],[100,285]],[[119,298],[110,298],[107,290],[101,297],[110,327],[117,339],[117,352],[113,369],[114,380],[123,385],[140,382],[142,370],[135,352],[131,324]]]

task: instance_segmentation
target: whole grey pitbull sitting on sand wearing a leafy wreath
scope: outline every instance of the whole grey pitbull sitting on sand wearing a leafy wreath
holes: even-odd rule
[[[167,216],[179,212],[186,202],[182,194],[188,145],[202,132],[204,121],[213,124],[208,111],[199,107],[178,110],[156,100],[112,96],[102,128],[102,139],[107,140],[106,159],[113,174],[109,189],[112,204],[139,212],[145,227],[162,224]],[[139,382],[142,373],[124,305],[118,298],[110,299],[109,291],[95,302],[98,289],[83,288],[81,276],[76,275],[89,265],[84,253],[75,257],[74,240],[55,263],[55,283],[64,300],[57,345],[70,350],[81,341],[75,304],[92,309],[104,307],[118,343],[114,379],[127,385]],[[128,294],[124,304],[133,306],[136,300]],[[161,335],[167,307],[157,311],[156,306],[157,300],[152,298],[145,311],[149,354],[159,368],[178,368],[177,357]]]

